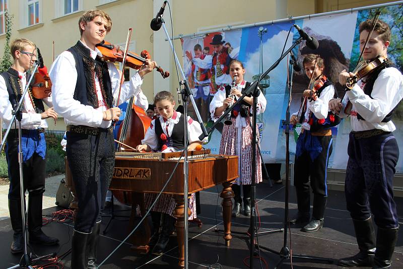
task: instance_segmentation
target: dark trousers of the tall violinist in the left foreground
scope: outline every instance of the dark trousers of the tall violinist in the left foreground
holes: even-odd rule
[[[106,191],[115,163],[112,129],[96,135],[66,132],[66,153],[76,187],[79,210],[75,230],[90,233],[101,221]]]

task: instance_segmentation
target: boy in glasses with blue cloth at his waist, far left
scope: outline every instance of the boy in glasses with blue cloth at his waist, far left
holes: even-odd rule
[[[27,39],[16,39],[10,44],[14,62],[9,70],[0,76],[0,117],[7,128],[13,118],[14,106],[21,99],[28,78],[26,72],[36,60],[36,46]],[[50,108],[45,109],[43,102]],[[24,193],[28,190],[28,231],[29,242],[41,245],[54,245],[59,241],[42,232],[42,196],[45,191],[46,175],[46,118],[57,119],[52,107],[52,98],[37,99],[31,88],[24,97],[22,110],[22,153]],[[14,127],[14,125],[13,125]],[[18,162],[18,130],[9,132],[6,143],[6,159],[9,166],[10,191],[9,210],[14,231],[11,253],[23,252],[23,222],[20,192],[20,169]]]

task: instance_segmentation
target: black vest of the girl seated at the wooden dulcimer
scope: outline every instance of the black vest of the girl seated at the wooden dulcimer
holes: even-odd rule
[[[180,150],[184,149],[185,144],[185,125],[183,122],[183,114],[180,115],[179,122],[173,126],[172,134],[168,138],[167,141],[162,140],[161,134],[164,132],[162,131],[161,121],[157,118],[155,121],[155,134],[157,135],[158,139],[158,149],[161,151],[163,145],[167,145],[167,147],[174,147]]]

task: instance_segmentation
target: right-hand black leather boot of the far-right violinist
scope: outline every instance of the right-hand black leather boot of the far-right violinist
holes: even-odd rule
[[[399,227],[392,229],[382,229],[378,227],[374,265],[372,268],[390,268],[398,231]]]

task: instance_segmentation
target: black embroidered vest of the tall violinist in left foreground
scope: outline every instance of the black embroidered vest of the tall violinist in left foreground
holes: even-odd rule
[[[112,107],[112,85],[108,72],[108,63],[97,55],[95,60],[91,57],[90,49],[80,41],[69,48],[76,60],[77,83],[73,98],[83,105],[98,108],[98,97],[95,88],[95,74],[99,80],[102,97],[108,108]]]

